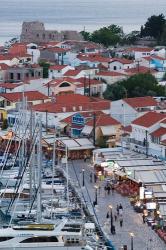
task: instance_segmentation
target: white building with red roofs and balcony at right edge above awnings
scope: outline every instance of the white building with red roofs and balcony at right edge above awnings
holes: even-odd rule
[[[131,123],[131,149],[166,159],[166,114],[147,112]]]

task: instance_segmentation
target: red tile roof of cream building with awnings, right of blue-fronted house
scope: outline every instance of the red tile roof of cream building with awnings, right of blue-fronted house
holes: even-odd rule
[[[93,126],[93,119],[91,121],[88,121],[86,125]],[[120,122],[112,118],[110,115],[99,115],[96,117],[96,126],[114,126],[114,125],[120,125]]]

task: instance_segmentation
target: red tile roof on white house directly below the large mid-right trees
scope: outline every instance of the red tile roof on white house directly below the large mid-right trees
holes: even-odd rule
[[[124,98],[123,101],[133,108],[157,106],[157,101],[151,96]]]

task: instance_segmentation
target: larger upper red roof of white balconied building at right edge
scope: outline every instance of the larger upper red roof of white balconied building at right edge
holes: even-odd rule
[[[135,119],[132,124],[139,125],[142,127],[149,128],[155,123],[159,123],[166,118],[166,114],[157,112],[147,112],[143,116]]]

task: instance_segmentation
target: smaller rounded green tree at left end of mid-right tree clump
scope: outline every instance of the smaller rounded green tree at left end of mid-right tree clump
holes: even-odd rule
[[[106,91],[103,93],[105,99],[108,100],[119,100],[127,96],[126,88],[120,83],[107,85]]]

